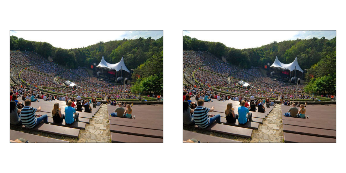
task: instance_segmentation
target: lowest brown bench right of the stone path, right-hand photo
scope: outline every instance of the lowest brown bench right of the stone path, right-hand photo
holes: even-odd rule
[[[300,135],[294,133],[283,133],[285,142],[299,143],[336,143],[335,138],[324,138],[318,136]]]

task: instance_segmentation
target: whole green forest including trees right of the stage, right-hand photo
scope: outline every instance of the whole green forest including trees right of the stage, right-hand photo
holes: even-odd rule
[[[320,39],[314,37],[285,40],[280,43],[274,41],[261,47],[236,49],[220,42],[207,42],[183,36],[183,50],[208,51],[218,58],[224,56],[229,63],[242,68],[272,64],[276,56],[282,63],[291,63],[297,57],[300,67],[307,69],[306,92],[318,94],[336,92],[336,37],[329,40],[325,37]],[[327,80],[328,85],[322,86],[321,84],[326,82],[321,80]]]

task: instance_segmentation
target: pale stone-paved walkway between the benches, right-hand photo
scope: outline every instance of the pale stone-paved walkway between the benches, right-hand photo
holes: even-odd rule
[[[252,134],[252,143],[280,143],[283,142],[283,129],[281,118],[281,106],[276,104],[268,117],[263,120],[258,130],[254,130]]]

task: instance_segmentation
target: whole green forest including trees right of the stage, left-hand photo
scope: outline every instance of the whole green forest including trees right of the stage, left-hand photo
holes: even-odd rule
[[[67,68],[98,64],[102,56],[108,63],[118,63],[121,57],[136,82],[133,91],[145,94],[163,93],[163,37],[102,41],[83,48],[63,49],[47,42],[35,42],[10,36],[10,50],[35,51],[44,58],[51,56],[57,64]],[[155,80],[155,86],[146,81]],[[143,82],[142,82],[143,81]],[[152,82],[153,83],[153,82]]]

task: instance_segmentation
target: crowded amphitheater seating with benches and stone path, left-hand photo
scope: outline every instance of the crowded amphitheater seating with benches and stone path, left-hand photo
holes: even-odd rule
[[[16,51],[10,54],[10,89],[19,92],[18,101],[24,104],[20,92],[41,93],[50,99],[44,101],[38,97],[39,102],[31,102],[31,107],[42,107],[36,114],[47,115],[49,123],[40,123],[31,129],[24,125],[10,125],[10,140],[23,138],[38,143],[163,142],[162,97],[157,99],[133,94],[130,84],[124,89],[124,85],[95,78],[85,67],[67,70],[34,52]],[[68,88],[64,85],[66,80],[82,87],[76,90]],[[66,102],[56,98],[66,94],[75,104],[78,95],[86,101],[95,98],[101,104],[93,107],[90,102],[91,112],[79,112],[78,122],[56,123],[52,118],[53,105],[59,103],[64,114]],[[133,118],[111,117],[110,114],[118,107],[113,104],[117,103],[133,103]]]

